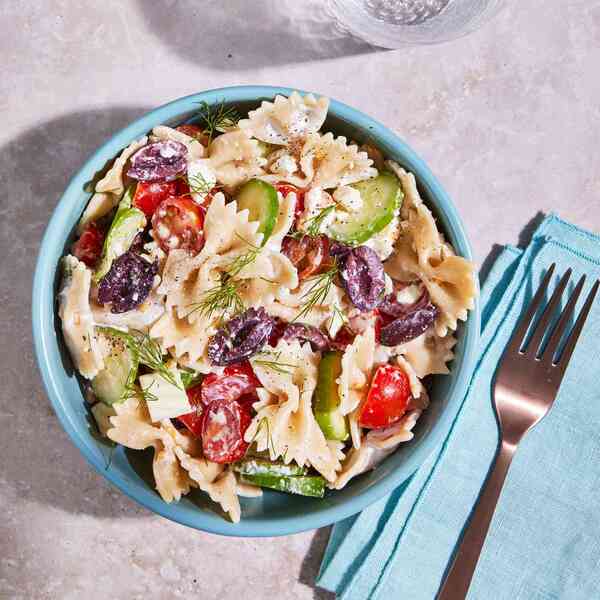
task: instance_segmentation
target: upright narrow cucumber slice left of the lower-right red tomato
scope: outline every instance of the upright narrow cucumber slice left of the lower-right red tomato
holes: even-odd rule
[[[342,372],[342,353],[324,352],[319,363],[317,387],[313,398],[313,413],[328,440],[348,439],[347,419],[339,410],[340,394],[337,378]]]

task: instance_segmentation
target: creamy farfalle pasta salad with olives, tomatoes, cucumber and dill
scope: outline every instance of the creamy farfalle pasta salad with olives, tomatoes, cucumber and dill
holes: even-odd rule
[[[476,294],[414,176],[321,131],[294,92],[132,142],[62,259],[59,316],[99,432],[152,448],[165,502],[229,518],[263,488],[322,497],[373,468],[448,373]]]

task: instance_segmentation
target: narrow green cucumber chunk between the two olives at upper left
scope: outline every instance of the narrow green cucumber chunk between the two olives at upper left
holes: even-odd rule
[[[131,206],[134,193],[135,186],[132,185],[119,202],[119,207],[104,240],[100,264],[94,273],[96,283],[108,273],[113,260],[129,250],[135,236],[146,226],[146,215]]]

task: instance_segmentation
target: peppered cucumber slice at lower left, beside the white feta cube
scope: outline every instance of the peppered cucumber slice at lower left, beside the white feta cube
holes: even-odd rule
[[[104,369],[92,379],[92,389],[104,404],[123,402],[127,384],[133,383],[137,375],[137,355],[129,347],[127,334],[110,327],[98,331],[109,354],[104,359]]]

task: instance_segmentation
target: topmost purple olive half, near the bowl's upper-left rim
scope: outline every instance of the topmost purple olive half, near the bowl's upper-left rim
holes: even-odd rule
[[[187,169],[187,148],[162,140],[140,148],[131,157],[127,175],[138,181],[172,181]]]

